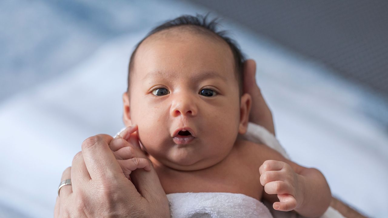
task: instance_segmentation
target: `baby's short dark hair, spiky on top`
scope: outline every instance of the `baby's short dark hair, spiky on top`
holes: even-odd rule
[[[155,33],[158,33],[162,30],[170,29],[170,28],[174,28],[174,27],[178,27],[178,26],[187,26],[187,27],[191,28],[192,30],[196,31],[197,33],[201,33],[204,35],[215,37],[217,39],[221,39],[229,45],[229,48],[232,50],[232,54],[234,57],[234,63],[235,63],[234,66],[236,68],[235,69],[236,79],[237,79],[237,82],[239,84],[239,93],[240,93],[240,97],[241,97],[242,90],[243,90],[243,81],[244,81],[244,77],[243,77],[244,76],[243,64],[245,62],[244,54],[242,54],[236,41],[234,41],[233,39],[231,39],[227,36],[227,32],[228,32],[227,30],[222,30],[222,31],[217,30],[218,25],[220,25],[217,22],[218,18],[215,18],[211,21],[208,21],[207,20],[208,16],[209,16],[209,13],[206,14],[205,16],[200,15],[200,14],[197,14],[196,16],[183,15],[183,16],[177,17],[175,19],[168,20],[168,21],[164,22],[163,24],[155,27],[151,31],[149,31],[149,33],[139,43],[137,43],[137,45],[135,46],[135,49],[132,52],[132,55],[131,55],[131,58],[129,61],[129,66],[128,66],[127,93],[129,94],[130,73],[131,73],[133,66],[134,66],[135,54],[136,54],[136,51],[139,48],[140,44],[149,36],[151,36]]]

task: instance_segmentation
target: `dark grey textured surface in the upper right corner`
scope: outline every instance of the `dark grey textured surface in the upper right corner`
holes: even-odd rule
[[[388,100],[387,1],[190,2],[317,59]]]

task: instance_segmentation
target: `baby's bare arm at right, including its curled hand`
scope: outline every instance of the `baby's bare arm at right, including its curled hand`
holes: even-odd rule
[[[263,198],[272,202],[277,210],[294,209],[306,217],[321,216],[331,201],[330,188],[322,173],[289,161],[269,147],[265,150],[266,159],[270,160],[259,169],[260,183],[265,191]]]

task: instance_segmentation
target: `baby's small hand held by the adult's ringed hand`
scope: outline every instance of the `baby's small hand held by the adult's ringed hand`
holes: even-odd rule
[[[109,147],[113,151],[117,162],[120,164],[125,177],[129,180],[131,179],[129,175],[136,169],[143,168],[147,171],[151,170],[149,160],[140,149],[137,134],[132,134],[136,130],[137,125],[127,127],[125,130],[116,135],[109,144]]]

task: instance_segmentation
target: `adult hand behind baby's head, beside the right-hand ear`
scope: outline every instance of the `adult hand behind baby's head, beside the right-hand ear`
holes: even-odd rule
[[[252,59],[244,62],[244,93],[252,97],[252,109],[249,122],[256,123],[266,128],[275,135],[272,113],[265,102],[260,88],[256,84],[256,62]]]

